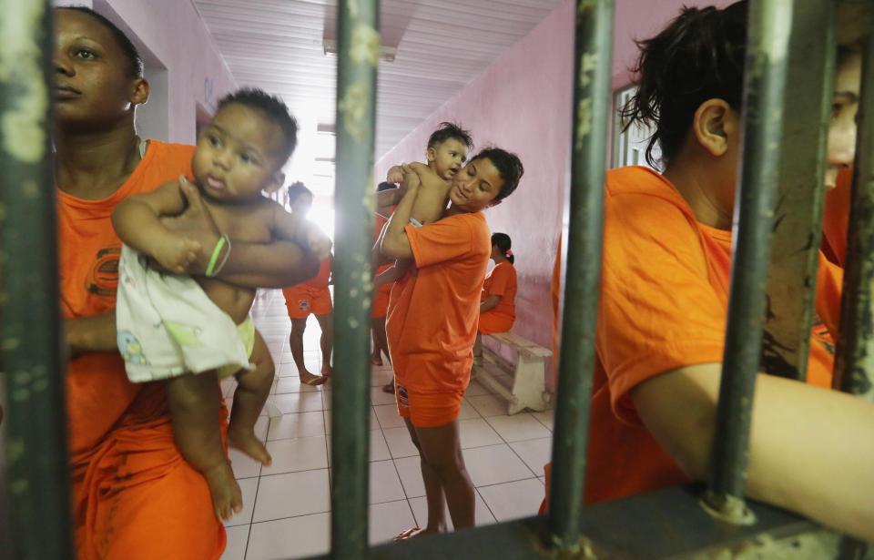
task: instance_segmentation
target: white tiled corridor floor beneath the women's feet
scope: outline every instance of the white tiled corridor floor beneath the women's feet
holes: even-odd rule
[[[300,383],[289,351],[291,323],[279,291],[260,296],[253,316],[277,363],[270,399],[282,416],[270,419],[265,413],[256,427],[273,455],[270,467],[230,452],[245,508],[228,524],[228,548],[222,560],[323,554],[330,547],[330,387]],[[319,336],[319,324],[310,318],[304,348],[307,367],[313,372],[321,365]],[[371,543],[390,541],[404,529],[427,522],[419,454],[393,396],[380,389],[390,379],[390,366],[373,369]],[[234,385],[233,380],[224,382],[229,400]],[[552,445],[552,411],[508,416],[506,402],[474,381],[459,420],[462,453],[477,492],[476,523],[536,514],[544,497],[543,466]]]

